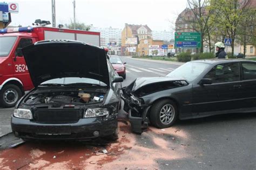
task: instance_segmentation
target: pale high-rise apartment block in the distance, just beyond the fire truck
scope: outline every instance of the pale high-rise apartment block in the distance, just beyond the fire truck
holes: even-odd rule
[[[100,46],[120,46],[122,29],[92,27],[90,31],[100,32]]]

